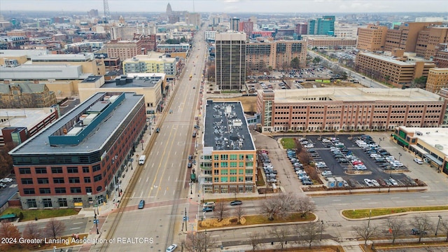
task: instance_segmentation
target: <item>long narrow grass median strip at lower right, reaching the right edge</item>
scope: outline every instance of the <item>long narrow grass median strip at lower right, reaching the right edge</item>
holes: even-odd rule
[[[402,214],[412,211],[447,211],[448,206],[434,206],[434,207],[392,207],[392,208],[381,208],[381,209],[354,209],[354,210],[344,210],[342,215],[346,218],[368,218],[369,216],[386,216],[389,214]],[[370,214],[372,211],[372,214]]]

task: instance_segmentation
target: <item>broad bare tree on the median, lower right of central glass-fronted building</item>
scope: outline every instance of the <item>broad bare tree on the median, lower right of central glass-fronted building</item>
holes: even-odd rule
[[[285,218],[288,216],[288,209],[293,209],[295,206],[295,197],[290,194],[279,194],[277,196],[269,197],[260,208],[262,214],[267,216],[269,221],[273,221],[274,218]]]

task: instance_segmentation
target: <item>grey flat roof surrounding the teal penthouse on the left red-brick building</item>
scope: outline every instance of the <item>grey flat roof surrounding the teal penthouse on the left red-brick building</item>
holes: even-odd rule
[[[66,113],[62,118],[59,118],[55,123],[46,127],[45,130],[38,132],[38,134],[28,139],[20,146],[11,151],[12,154],[20,155],[36,155],[36,154],[73,154],[73,153],[91,153],[92,151],[100,150],[104,144],[107,143],[109,138],[118,129],[118,126],[123,123],[128,113],[134,109],[141,99],[144,99],[143,95],[135,94],[134,92],[126,92],[125,99],[121,102],[120,106],[116,106],[113,113],[110,113],[105,120],[102,120],[94,130],[90,132],[77,145],[59,145],[50,146],[49,137],[61,129],[67,123],[75,120],[80,114],[89,110],[97,102],[101,102],[102,98],[106,95],[113,95],[117,93],[97,92],[92,95],[85,102],[79,104],[74,109]],[[121,93],[120,93],[121,94]]]

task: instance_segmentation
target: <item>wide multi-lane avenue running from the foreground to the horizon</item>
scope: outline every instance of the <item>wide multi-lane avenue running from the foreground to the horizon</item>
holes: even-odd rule
[[[181,78],[176,80],[167,108],[158,118],[160,132],[153,133],[146,162],[138,167],[141,169],[139,177],[134,179],[132,192],[127,193],[130,198],[126,211],[109,215],[102,228],[109,232],[109,239],[152,238],[153,243],[105,244],[101,251],[165,251],[169,244],[179,239],[182,216],[190,204],[187,200],[191,170],[187,168],[188,155],[195,147],[193,122],[197,116],[207,52],[203,45],[204,31],[198,31],[194,39]],[[137,209],[140,200],[146,201],[144,209]]]

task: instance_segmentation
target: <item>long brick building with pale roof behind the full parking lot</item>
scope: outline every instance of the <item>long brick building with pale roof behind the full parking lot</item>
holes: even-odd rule
[[[447,100],[409,88],[258,90],[262,132],[334,132],[440,127]]]

